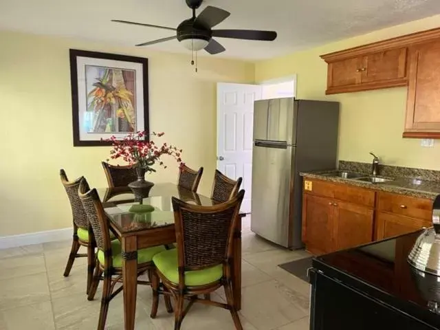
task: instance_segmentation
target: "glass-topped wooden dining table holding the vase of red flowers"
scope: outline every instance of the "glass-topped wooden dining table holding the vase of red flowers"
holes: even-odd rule
[[[124,298],[124,328],[135,327],[137,295],[137,250],[175,243],[172,197],[199,206],[214,206],[219,201],[200,195],[172,183],[155,184],[148,197],[136,201],[128,186],[97,188],[111,231],[122,245],[122,285]],[[133,205],[153,206],[152,212],[132,212]],[[138,208],[138,207],[136,207]],[[232,260],[232,290],[234,305],[241,309],[241,219],[239,213],[234,230]]]

